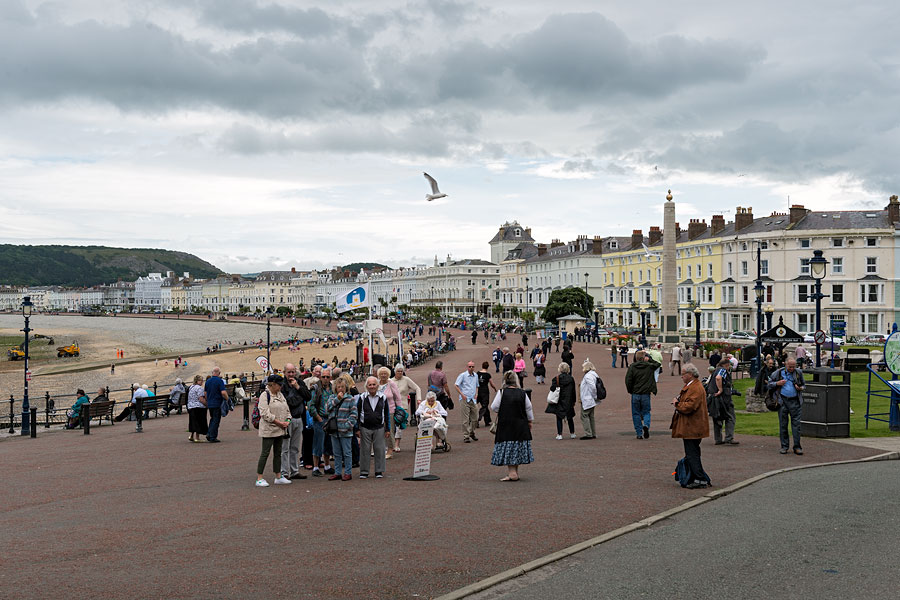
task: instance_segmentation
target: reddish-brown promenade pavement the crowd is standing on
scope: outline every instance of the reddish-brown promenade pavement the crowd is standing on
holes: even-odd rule
[[[468,360],[490,360],[493,346],[481,337],[473,346],[467,334],[441,357],[451,382]],[[41,430],[36,440],[2,440],[10,490],[0,508],[4,589],[17,598],[436,597],[701,496],[671,475],[683,456],[668,431],[680,378],[661,377],[652,436],[636,440],[625,370],[609,368],[605,346],[576,343],[574,352],[577,378],[592,358],[609,390],[597,409],[598,437],[555,440],[555,418],[543,413],[548,386],[529,378],[536,462],[521,468],[518,483],[499,481],[486,429],[462,443],[458,408],[448,419],[452,452],[433,457],[434,482],[402,480],[412,472],[407,431],[383,480],[255,488],[260,442],[256,431],[240,431],[240,412],[223,421],[214,445],[187,441],[186,416],[145,421],[142,434],[119,423],[90,436]],[[558,363],[552,353],[549,374]],[[424,387],[433,365],[410,375]],[[777,437],[737,439],[734,447],[702,445],[717,488],[880,453],[805,439],[804,456],[781,455]]]

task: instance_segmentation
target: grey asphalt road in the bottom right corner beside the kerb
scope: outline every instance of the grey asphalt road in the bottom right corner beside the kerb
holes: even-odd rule
[[[900,595],[900,463],[782,473],[472,600]]]

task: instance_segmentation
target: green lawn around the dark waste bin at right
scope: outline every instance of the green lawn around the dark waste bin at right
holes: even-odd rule
[[[882,374],[889,379],[890,373]],[[868,371],[855,371],[850,374],[850,407],[853,409],[850,415],[850,437],[887,437],[900,435],[900,432],[891,431],[887,422],[869,420],[869,428],[866,429],[866,390],[868,389]],[[744,396],[734,397],[735,410],[747,408],[745,398],[748,389],[752,389],[755,381],[751,378],[735,379],[734,388],[740,390]],[[872,376],[872,391],[887,391],[887,386]],[[886,397],[872,396],[870,410],[872,413],[886,413],[889,410],[890,400]],[[883,417],[887,419],[887,416]],[[778,413],[746,413],[737,416],[735,432],[750,435],[778,435]]]

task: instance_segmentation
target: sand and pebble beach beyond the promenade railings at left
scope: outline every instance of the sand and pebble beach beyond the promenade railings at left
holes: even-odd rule
[[[90,396],[96,395],[97,389],[109,386],[110,389],[128,388],[132,383],[147,384],[152,387],[156,382],[165,392],[177,377],[189,381],[194,375],[208,374],[218,366],[223,373],[250,373],[259,377],[262,369],[256,362],[258,356],[265,356],[265,348],[255,345],[260,339],[265,340],[265,322],[224,322],[202,320],[138,319],[126,317],[81,317],[38,315],[32,319],[32,328],[36,333],[51,335],[56,345],[63,345],[77,340],[81,345],[81,356],[78,358],[58,359],[55,357],[44,361],[33,361],[31,370],[34,378],[30,385],[30,397],[39,409],[44,406],[45,392],[52,396],[74,394],[76,389],[84,389]],[[0,335],[14,335],[21,329],[21,317],[16,315],[0,315]],[[272,324],[272,340],[283,340],[294,335],[300,339],[315,338],[335,332],[314,331],[312,329],[289,327]],[[19,333],[21,335],[21,333]],[[247,342],[247,346],[243,346]],[[223,344],[223,351],[205,354],[208,346]],[[327,344],[327,348],[324,347]],[[336,345],[335,345],[336,344]],[[125,350],[126,360],[145,357],[147,360],[123,364],[116,360],[115,350]],[[243,352],[235,350],[240,348]],[[169,356],[179,353],[204,352],[201,356],[186,358],[186,365],[174,366]],[[305,364],[316,359],[338,361],[356,358],[355,343],[319,342],[302,343],[297,350],[281,347],[272,352],[272,364],[283,368],[288,362],[296,363],[301,358]],[[110,365],[116,364],[115,374],[110,373]],[[78,372],[53,373],[60,368],[96,365],[96,368]],[[17,399],[22,396],[23,371],[22,363],[4,360],[0,368],[0,398],[9,398],[13,394]],[[115,396],[113,399],[118,400]],[[58,404],[74,401],[63,398]]]

